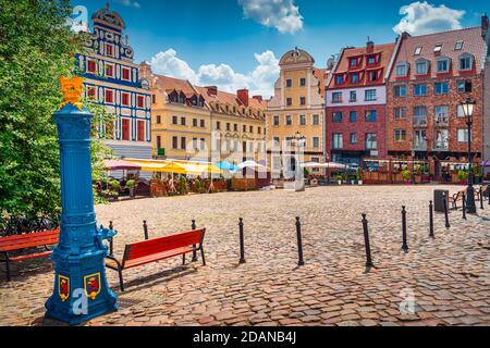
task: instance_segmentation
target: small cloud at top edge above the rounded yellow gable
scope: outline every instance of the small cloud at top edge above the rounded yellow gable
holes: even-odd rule
[[[303,16],[294,0],[238,0],[238,4],[245,17],[280,33],[294,34],[303,28]]]

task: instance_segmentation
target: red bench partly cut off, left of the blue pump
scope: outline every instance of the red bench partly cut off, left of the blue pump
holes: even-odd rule
[[[59,228],[54,231],[1,237],[0,252],[3,253],[3,259],[0,259],[0,262],[5,263],[7,281],[10,282],[10,262],[49,257],[52,253],[52,250],[48,249],[48,247],[58,245],[59,239]],[[36,252],[14,257],[11,256],[12,252],[30,248],[44,248],[45,250],[37,250]]]

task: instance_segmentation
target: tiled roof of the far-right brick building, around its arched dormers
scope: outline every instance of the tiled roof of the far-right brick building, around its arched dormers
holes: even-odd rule
[[[458,41],[463,41],[463,48],[455,50],[455,45]],[[442,45],[440,53],[434,53],[437,45]],[[437,34],[428,34],[421,36],[403,37],[403,41],[400,47],[396,60],[393,64],[390,80],[396,80],[395,67],[397,63],[407,62],[409,64],[409,77],[415,77],[415,63],[418,59],[422,58],[430,61],[430,77],[437,77],[436,64],[439,57],[448,57],[452,62],[452,72],[454,76],[460,76],[460,55],[463,53],[469,53],[475,57],[476,72],[481,71],[482,60],[485,57],[485,41],[481,37],[480,27],[470,27],[458,30],[443,32]],[[416,48],[421,47],[419,55],[415,55]]]

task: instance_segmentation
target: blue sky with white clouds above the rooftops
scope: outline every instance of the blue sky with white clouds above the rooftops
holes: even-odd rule
[[[73,0],[88,13],[107,1]],[[317,65],[345,46],[390,42],[412,34],[479,25],[488,0],[110,0],[126,22],[136,62],[158,73],[226,90],[270,95],[277,60],[295,46]],[[406,8],[404,8],[406,7]],[[401,9],[403,14],[401,14]],[[401,21],[405,18],[402,23]],[[400,24],[401,23],[401,24]]]

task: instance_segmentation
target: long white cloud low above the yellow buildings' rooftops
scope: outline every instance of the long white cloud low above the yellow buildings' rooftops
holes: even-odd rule
[[[221,90],[236,92],[248,88],[250,95],[270,97],[279,77],[279,60],[272,51],[255,53],[257,66],[249,73],[237,73],[228,64],[205,64],[197,72],[187,62],[177,58],[175,50],[157,53],[150,61],[154,73],[188,79],[199,86],[218,86]]]

